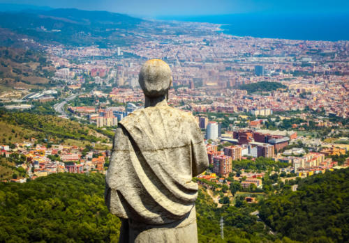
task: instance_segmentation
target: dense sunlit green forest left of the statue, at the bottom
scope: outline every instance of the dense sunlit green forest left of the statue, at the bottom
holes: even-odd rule
[[[0,183],[0,242],[117,242],[120,221],[105,207],[104,176],[59,173]]]

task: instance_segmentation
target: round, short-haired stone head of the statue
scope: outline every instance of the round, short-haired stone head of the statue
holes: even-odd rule
[[[146,61],[138,79],[147,97],[160,97],[168,93],[172,84],[172,74],[167,63],[160,59]]]

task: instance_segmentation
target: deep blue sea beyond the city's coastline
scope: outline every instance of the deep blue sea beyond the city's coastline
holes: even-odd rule
[[[159,17],[163,20],[224,24],[233,36],[292,40],[349,40],[349,14],[235,14]]]

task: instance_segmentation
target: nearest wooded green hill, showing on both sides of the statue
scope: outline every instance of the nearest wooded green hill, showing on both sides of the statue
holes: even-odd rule
[[[24,184],[0,182],[0,242],[117,242],[120,221],[107,211],[104,187],[100,173],[58,173]],[[216,208],[205,190],[199,191],[196,210],[199,242],[276,239],[250,214],[252,208]]]

